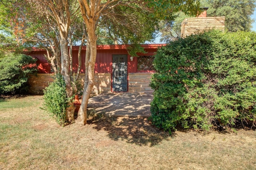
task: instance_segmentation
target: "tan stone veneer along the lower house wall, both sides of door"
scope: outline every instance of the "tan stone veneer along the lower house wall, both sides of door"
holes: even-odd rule
[[[128,90],[131,93],[152,93],[153,90],[149,87],[152,73],[129,73]],[[95,73],[95,85],[92,89],[92,94],[111,92],[111,73]],[[53,81],[53,74],[38,74],[29,79],[29,93],[43,94],[43,89],[48,86],[49,82]],[[84,83],[84,74],[80,74],[79,80]]]

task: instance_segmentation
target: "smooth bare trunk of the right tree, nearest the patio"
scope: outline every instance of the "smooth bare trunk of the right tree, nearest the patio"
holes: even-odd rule
[[[110,3],[108,0],[104,5],[100,3],[101,1],[96,0],[78,0],[80,3],[80,10],[82,13],[82,17],[84,23],[86,24],[86,32],[88,34],[87,44],[86,44],[86,60],[85,60],[85,82],[84,82],[84,91],[83,91],[83,99],[78,111],[78,118],[76,120],[77,123],[81,125],[85,125],[87,123],[87,105],[90,97],[90,93],[92,92],[92,88],[94,85],[94,65],[96,61],[97,55],[97,36],[96,36],[96,28],[98,25],[98,21],[100,18],[100,12]]]

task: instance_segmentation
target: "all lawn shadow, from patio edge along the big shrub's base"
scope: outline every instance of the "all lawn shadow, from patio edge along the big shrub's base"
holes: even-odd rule
[[[136,144],[139,146],[155,146],[162,140],[168,140],[168,138],[175,138],[176,132],[172,132],[170,136],[168,132],[164,132],[151,125],[147,118],[134,118],[134,117],[106,117],[104,114],[94,114],[88,118],[88,124],[93,125],[96,130],[104,130],[108,133],[109,138],[118,141],[123,140],[127,143]],[[212,130],[219,133],[231,133],[236,130],[255,130],[255,128],[248,128],[237,126],[236,128],[226,127],[224,129],[218,129],[218,127],[212,127],[210,131],[206,130],[193,130],[184,129],[181,126],[177,127],[180,132],[193,131],[194,135],[202,134],[207,135]]]

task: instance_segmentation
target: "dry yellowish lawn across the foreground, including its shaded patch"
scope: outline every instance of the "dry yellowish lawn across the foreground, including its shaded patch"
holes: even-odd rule
[[[0,100],[0,169],[244,169],[256,167],[256,131],[178,130],[146,119],[92,115],[60,127],[42,96]],[[4,107],[4,109],[2,109]]]

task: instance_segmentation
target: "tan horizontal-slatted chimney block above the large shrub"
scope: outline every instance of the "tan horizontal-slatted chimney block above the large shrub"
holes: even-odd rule
[[[224,31],[225,17],[185,18],[181,23],[181,37],[185,38],[191,34],[197,34],[211,29]]]

